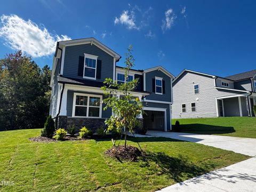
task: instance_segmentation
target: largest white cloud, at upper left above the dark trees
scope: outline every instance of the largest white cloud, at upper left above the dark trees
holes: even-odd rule
[[[57,41],[70,39],[67,35],[52,35],[44,26],[39,28],[33,21],[25,21],[15,14],[2,15],[1,24],[0,37],[5,40],[5,45],[34,58],[51,55]]]

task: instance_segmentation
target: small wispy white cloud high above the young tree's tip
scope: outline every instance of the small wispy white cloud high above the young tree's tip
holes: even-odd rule
[[[120,15],[119,18],[115,18],[114,21],[115,25],[121,23],[122,25],[125,25],[128,29],[138,29],[139,27],[135,24],[135,14],[133,11],[127,11],[124,10],[123,13]]]

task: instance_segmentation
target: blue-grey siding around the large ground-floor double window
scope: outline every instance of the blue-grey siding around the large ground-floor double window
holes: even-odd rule
[[[74,93],[83,93],[83,94],[92,94],[92,95],[102,95],[102,99],[104,99],[103,94],[99,93],[91,93],[91,92],[83,92],[83,91],[73,91],[73,90],[68,90],[67,92],[67,116],[72,117],[72,111],[73,111],[73,101],[74,101]],[[106,110],[103,110],[105,107],[105,104],[103,103],[102,105],[102,118],[109,118],[112,115],[112,110],[111,108],[108,108]]]

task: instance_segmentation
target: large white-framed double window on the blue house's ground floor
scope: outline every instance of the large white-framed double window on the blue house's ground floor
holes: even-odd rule
[[[102,96],[74,93],[73,117],[100,117],[102,109]]]

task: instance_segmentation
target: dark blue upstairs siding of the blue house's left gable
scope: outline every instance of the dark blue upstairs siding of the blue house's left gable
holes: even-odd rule
[[[91,44],[73,45],[65,48],[63,77],[84,79],[82,76],[78,76],[79,56],[84,57],[84,53],[96,55],[98,60],[101,60],[101,78],[90,79],[91,81],[104,82],[106,78],[113,79],[114,58],[99,47]]]

